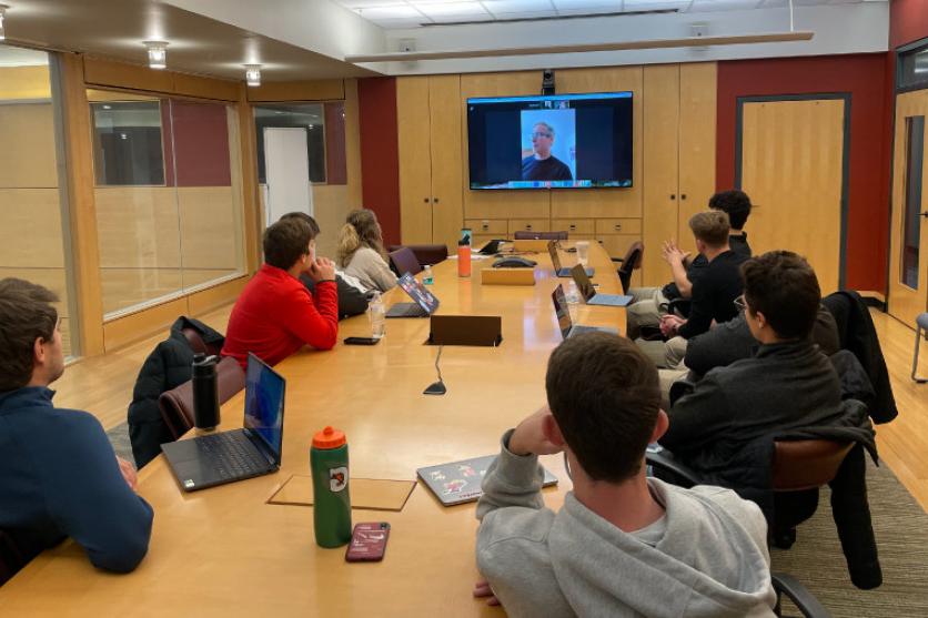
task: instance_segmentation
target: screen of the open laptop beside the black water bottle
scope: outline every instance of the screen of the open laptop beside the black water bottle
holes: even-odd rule
[[[245,371],[245,428],[254,432],[268,445],[278,465],[283,446],[283,402],[286,382],[249,353]]]

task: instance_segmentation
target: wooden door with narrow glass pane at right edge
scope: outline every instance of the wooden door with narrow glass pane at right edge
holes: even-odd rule
[[[928,308],[926,118],[928,90],[907,92],[896,99],[888,302],[889,313],[910,326]]]

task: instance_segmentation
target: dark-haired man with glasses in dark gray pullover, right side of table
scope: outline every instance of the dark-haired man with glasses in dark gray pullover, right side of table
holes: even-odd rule
[[[748,443],[830,425],[845,414],[838,375],[809,338],[821,300],[815,272],[788,251],[765,253],[742,271],[745,318],[759,348],[750,358],[709,371],[677,399],[670,429],[659,440],[729,487],[739,487],[749,474],[733,464]]]

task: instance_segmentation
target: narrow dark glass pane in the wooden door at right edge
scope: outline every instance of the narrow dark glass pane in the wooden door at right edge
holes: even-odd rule
[[[918,290],[918,253],[921,235],[921,162],[925,153],[925,116],[906,119],[906,210],[902,214],[901,280]]]

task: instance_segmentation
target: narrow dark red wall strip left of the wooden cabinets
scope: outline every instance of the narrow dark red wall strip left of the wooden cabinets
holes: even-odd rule
[[[384,244],[400,243],[400,151],[396,80],[357,81],[361,113],[361,178],[364,207],[377,214]]]

